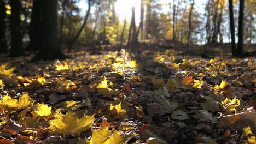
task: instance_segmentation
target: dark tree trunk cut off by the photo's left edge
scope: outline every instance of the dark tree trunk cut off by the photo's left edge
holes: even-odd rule
[[[0,53],[7,53],[6,39],[5,39],[5,17],[6,8],[3,0],[0,0]]]

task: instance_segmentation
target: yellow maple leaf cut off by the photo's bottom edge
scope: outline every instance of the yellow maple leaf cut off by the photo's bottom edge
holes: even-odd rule
[[[124,143],[123,136],[117,130],[108,130],[108,127],[101,127],[99,130],[91,129],[92,135],[91,140],[79,140],[78,143],[88,143],[88,144],[119,144]],[[112,136],[109,138],[109,136]]]

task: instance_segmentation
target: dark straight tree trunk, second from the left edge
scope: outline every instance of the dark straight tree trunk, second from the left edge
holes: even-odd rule
[[[10,0],[11,15],[11,50],[10,56],[17,57],[22,55],[22,37],[20,31],[20,0]]]

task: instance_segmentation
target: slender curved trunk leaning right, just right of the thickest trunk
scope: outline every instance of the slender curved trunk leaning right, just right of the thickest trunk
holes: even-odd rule
[[[86,25],[86,22],[87,22],[87,20],[88,20],[90,11],[91,11],[91,0],[88,0],[88,10],[87,10],[87,12],[86,12],[86,16],[85,16],[83,25],[82,25],[82,27],[79,29],[78,33],[75,35],[75,37],[73,38],[73,40],[71,40],[71,43],[70,43],[69,46],[68,46],[68,52],[71,52],[72,46],[74,45],[75,41],[77,41],[79,35],[80,35],[81,32],[83,31],[84,26]]]

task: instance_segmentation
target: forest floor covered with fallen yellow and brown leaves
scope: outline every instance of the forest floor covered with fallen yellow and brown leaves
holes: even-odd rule
[[[69,54],[0,58],[0,143],[256,143],[255,57]]]

